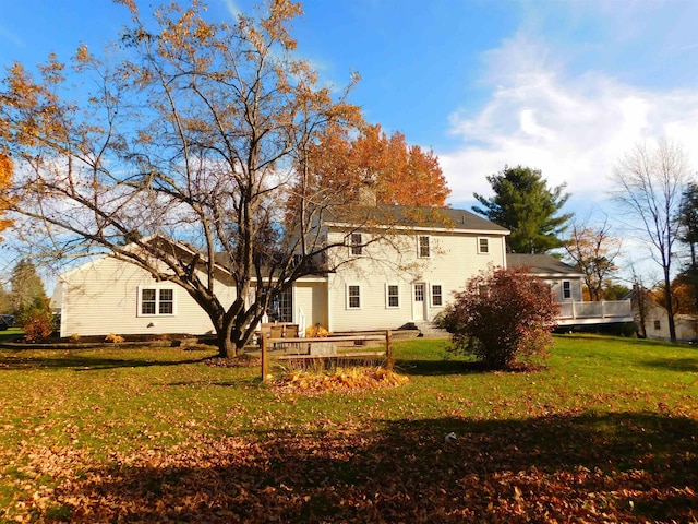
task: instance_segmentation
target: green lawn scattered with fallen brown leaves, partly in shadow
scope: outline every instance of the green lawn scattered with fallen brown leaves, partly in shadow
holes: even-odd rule
[[[0,349],[0,522],[698,519],[698,349],[555,341],[533,373],[402,342],[408,385],[315,396],[214,352]]]

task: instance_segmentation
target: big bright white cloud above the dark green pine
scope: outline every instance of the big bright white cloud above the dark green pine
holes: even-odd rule
[[[484,106],[450,116],[462,145],[437,152],[452,202],[491,194],[485,177],[507,164],[541,169],[550,186],[567,183],[570,204],[598,202],[609,198],[613,165],[637,142],[665,134],[687,152],[698,143],[698,93],[565,75],[550,55],[520,36],[486,53],[486,81],[496,87]]]

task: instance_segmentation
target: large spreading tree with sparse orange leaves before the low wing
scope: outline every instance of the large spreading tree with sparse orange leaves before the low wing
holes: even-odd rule
[[[270,0],[228,24],[197,0],[153,16],[120,3],[131,22],[99,56],[80,47],[70,66],[51,56],[36,75],[9,70],[0,153],[15,162],[8,195],[17,200],[5,203],[17,231],[63,260],[110,253],[184,288],[230,356],[270,298],[333,249],[320,215],[342,194],[302,183],[305,152],[360,111],[348,88],[318,86],[294,58],[299,4]],[[289,188],[298,206],[285,213]],[[234,285],[232,303],[221,278]]]

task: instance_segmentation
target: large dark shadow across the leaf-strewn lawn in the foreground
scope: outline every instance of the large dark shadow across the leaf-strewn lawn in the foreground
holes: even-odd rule
[[[647,413],[385,421],[141,452],[55,497],[75,522],[690,522],[698,422]],[[444,434],[457,440],[446,443]]]

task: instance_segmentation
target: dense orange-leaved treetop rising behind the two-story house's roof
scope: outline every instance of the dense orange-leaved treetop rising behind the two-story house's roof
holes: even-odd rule
[[[328,126],[310,145],[312,183],[344,193],[368,184],[380,204],[443,206],[450,190],[433,151],[408,145],[405,135],[387,135],[365,124],[358,136],[346,127]]]

